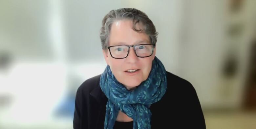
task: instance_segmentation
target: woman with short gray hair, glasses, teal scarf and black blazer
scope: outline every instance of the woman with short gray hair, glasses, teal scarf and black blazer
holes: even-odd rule
[[[75,99],[74,129],[204,129],[196,91],[155,56],[153,22],[138,9],[111,10],[100,39],[105,71],[86,80]]]

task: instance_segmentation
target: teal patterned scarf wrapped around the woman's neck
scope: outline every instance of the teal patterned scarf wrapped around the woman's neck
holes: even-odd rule
[[[113,129],[119,110],[133,119],[133,129],[150,129],[151,104],[166,92],[166,70],[155,57],[148,78],[133,91],[117,81],[107,65],[100,77],[100,88],[108,98],[104,129]]]

